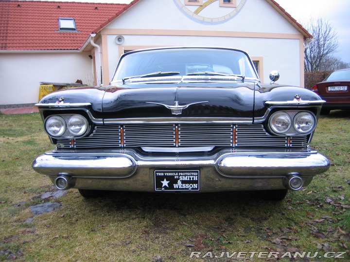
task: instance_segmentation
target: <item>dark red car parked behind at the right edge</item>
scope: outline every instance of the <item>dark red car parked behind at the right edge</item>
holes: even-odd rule
[[[322,105],[321,115],[331,110],[350,110],[350,68],[334,71],[323,82],[316,83],[311,89],[326,101]]]

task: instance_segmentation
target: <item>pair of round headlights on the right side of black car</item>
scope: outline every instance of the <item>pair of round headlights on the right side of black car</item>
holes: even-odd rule
[[[279,111],[271,115],[269,127],[275,134],[308,134],[315,130],[316,117],[308,111]]]

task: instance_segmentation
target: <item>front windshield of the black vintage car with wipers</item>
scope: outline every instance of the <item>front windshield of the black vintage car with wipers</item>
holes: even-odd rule
[[[113,81],[158,76],[235,75],[258,79],[249,57],[231,49],[157,49],[127,53]]]

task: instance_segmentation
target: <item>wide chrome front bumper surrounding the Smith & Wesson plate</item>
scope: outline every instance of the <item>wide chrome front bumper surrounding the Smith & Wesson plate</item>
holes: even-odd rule
[[[69,180],[70,187],[91,190],[155,191],[155,170],[200,170],[200,192],[288,188],[297,176],[307,186],[329,168],[329,161],[308,150],[222,150],[202,155],[143,155],[139,151],[48,151],[33,162],[36,172]],[[57,185],[56,185],[57,186]],[[62,189],[62,188],[61,188]]]

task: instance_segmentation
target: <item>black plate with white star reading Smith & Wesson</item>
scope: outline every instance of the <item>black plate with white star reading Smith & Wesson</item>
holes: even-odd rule
[[[199,170],[155,170],[156,191],[199,191]]]

